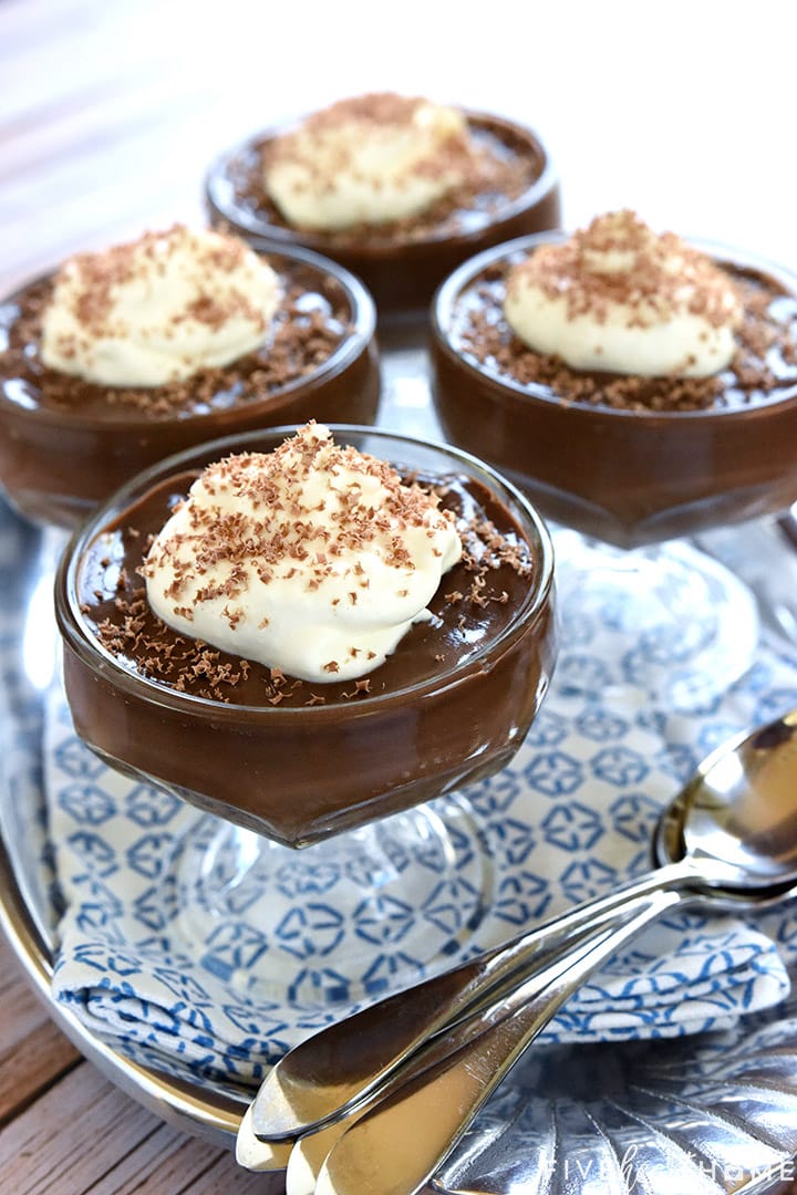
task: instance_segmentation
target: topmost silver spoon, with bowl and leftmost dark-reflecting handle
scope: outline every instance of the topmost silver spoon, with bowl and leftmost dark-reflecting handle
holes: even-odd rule
[[[485,1005],[523,982],[550,951],[625,925],[634,901],[676,893],[742,912],[790,895],[797,884],[797,710],[704,760],[662,816],[655,854],[658,868],[611,895],[307,1038],[256,1096],[255,1134],[295,1140],[361,1105],[388,1078],[398,1080],[397,1072],[406,1081],[412,1066],[423,1066],[425,1042],[468,1018],[468,1036],[480,1032]]]

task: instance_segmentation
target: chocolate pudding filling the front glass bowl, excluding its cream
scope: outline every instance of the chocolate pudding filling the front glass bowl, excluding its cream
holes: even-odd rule
[[[204,466],[270,452],[289,430],[206,445],[128,485],[73,539],[56,609],[67,697],[92,748],[203,809],[302,846],[508,762],[546,692],[554,629],[552,553],[533,508],[455,449],[364,428],[333,429],[335,439],[436,495],[461,553],[384,662],[339,679],[329,661],[323,680],[300,679],[167,625],[141,571],[157,556],[153,537]],[[165,592],[176,608],[184,602],[179,587]],[[356,603],[357,594],[345,599]],[[225,615],[233,627],[240,617],[227,607]]]

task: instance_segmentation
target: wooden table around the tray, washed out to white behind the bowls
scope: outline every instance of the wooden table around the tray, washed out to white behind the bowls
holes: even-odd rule
[[[404,2],[387,59],[382,35],[372,32],[368,53],[355,36],[357,25],[373,24],[363,4],[305,0],[281,14],[264,0],[213,8],[186,0],[2,0],[0,292],[74,250],[201,219],[201,180],[217,151],[288,112],[384,86],[544,127],[559,147],[571,223],[631,206],[651,222],[797,263],[792,166],[778,153],[793,110],[787,0],[759,2],[756,23],[746,18],[743,27],[730,6],[722,19],[713,10],[717,29],[699,6],[679,27],[683,14],[673,4],[668,26],[656,32],[658,56],[632,4],[586,7],[581,38],[560,6],[546,18],[538,57],[534,42],[505,37],[516,6],[491,4],[477,39],[480,65],[467,6],[453,48],[452,7],[439,7]],[[627,43],[618,41],[623,30]],[[754,135],[760,155],[746,158]],[[281,1189],[278,1178],[238,1169],[229,1153],[166,1127],[106,1081],[51,1023],[2,942],[0,1007],[2,1191]]]

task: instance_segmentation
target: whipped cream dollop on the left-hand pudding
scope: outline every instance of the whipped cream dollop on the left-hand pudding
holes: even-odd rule
[[[238,237],[174,225],[65,263],[42,358],[105,386],[164,386],[258,348],[278,301],[276,274]]]

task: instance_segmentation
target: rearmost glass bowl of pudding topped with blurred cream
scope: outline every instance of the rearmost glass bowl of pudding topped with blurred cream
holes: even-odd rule
[[[354,129],[352,143],[344,147],[344,154],[351,155],[368,141],[374,125],[405,130],[413,111],[424,114],[424,137],[431,130],[431,143],[424,140],[417,147],[416,177],[441,179],[453,164],[447,189],[424,195],[418,200],[422,206],[406,213],[399,203],[372,210],[373,192],[385,194],[382,180],[373,183],[372,195],[364,200],[356,190],[351,196],[342,192],[341,206],[361,216],[343,226],[345,217],[335,212],[317,216],[301,207],[293,220],[286,215],[286,189],[270,179],[275,155],[288,157],[286,143],[293,153],[298,131],[318,124],[326,131],[339,121]],[[462,149],[467,161],[456,173]],[[326,152],[324,145],[321,153]],[[415,149],[405,141],[391,143],[388,151],[380,148],[375,153],[380,168],[393,152],[404,171],[397,186],[401,192],[406,190],[401,185],[406,161],[412,161]],[[298,190],[308,178],[312,182],[321,153],[308,154],[312,168],[299,179]],[[337,141],[330,158],[331,186],[337,186]],[[357,159],[357,166],[370,171],[372,163]],[[265,235],[278,244],[307,245],[339,262],[363,280],[380,317],[424,311],[437,284],[460,262],[510,237],[556,228],[560,215],[558,178],[546,146],[534,131],[498,116],[390,93],[342,100],[299,125],[250,137],[213,165],[206,197],[211,221],[223,222],[243,237]],[[288,207],[288,212],[293,209]],[[324,220],[327,226],[323,226]]]

